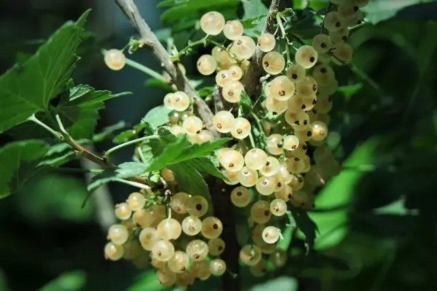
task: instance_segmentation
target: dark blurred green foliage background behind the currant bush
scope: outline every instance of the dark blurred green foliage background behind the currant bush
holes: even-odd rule
[[[137,0],[153,30],[162,27],[157,2]],[[274,274],[261,281],[277,285],[257,288],[436,290],[437,8],[435,2],[413,0],[408,3],[414,5],[399,10],[403,2],[408,1],[371,1],[368,23],[350,36],[353,67],[335,67],[343,87],[333,97],[327,144],[343,162],[343,171],[318,194],[317,211],[310,212],[319,226],[317,255],[307,262],[289,259],[284,274],[299,280],[298,289],[292,289],[293,281],[274,281]],[[318,10],[326,3],[310,5]],[[147,77],[133,68],[114,72],[103,64],[100,48],[121,48],[133,35],[114,1],[0,0],[0,73],[88,8],[87,29],[95,33],[96,44],[83,53],[75,79],[98,89],[133,92],[107,102],[98,128],[119,120],[135,124],[161,104],[165,91],[145,87]],[[235,9],[239,16],[242,9]],[[315,34],[311,27],[294,29],[302,38]],[[179,35],[179,42],[186,40],[187,35]],[[200,53],[202,48],[195,55]],[[131,58],[159,70],[148,52]],[[192,61],[183,61],[198,78]],[[1,135],[0,143],[10,139]],[[110,141],[98,143],[96,152],[109,147]],[[120,150],[114,163],[130,158],[131,149]],[[129,191],[111,184],[81,209],[87,195],[84,177],[53,172],[2,199],[0,290],[163,290],[152,269],[103,258],[105,228],[114,221],[111,209]],[[244,274],[244,288],[260,281]],[[193,289],[217,290],[214,280]]]

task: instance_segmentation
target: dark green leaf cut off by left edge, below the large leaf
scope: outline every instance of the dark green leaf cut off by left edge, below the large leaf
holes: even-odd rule
[[[27,182],[48,150],[47,143],[36,139],[15,141],[0,148],[0,198]]]

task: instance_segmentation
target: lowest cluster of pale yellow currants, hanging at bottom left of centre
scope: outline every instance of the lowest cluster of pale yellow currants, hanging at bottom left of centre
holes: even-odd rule
[[[162,176],[169,182],[174,180],[169,170]],[[172,195],[168,211],[164,205],[148,206],[146,202],[143,193],[134,192],[126,202],[116,205],[121,223],[109,227],[105,258],[132,260],[139,268],[152,264],[163,286],[187,288],[196,278],[224,274],[226,263],[211,258],[224,251],[220,238],[223,225],[217,217],[204,217],[209,208],[207,199],[178,192]],[[171,212],[171,217],[166,212]]]

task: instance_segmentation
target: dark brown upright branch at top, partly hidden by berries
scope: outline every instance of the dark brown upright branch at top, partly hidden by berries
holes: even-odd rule
[[[272,14],[272,12],[280,12],[285,8],[287,8],[287,1],[272,0],[272,4],[270,4],[269,8],[269,14],[267,14],[267,19],[265,20],[263,33],[274,33],[274,24],[276,20],[275,15]],[[262,63],[264,55],[265,53],[263,53],[263,51],[256,46],[255,54],[250,60],[249,70],[246,72],[246,74],[244,74],[243,80],[241,80],[241,83],[243,83],[249,96],[254,96],[259,90],[259,79],[263,73]]]

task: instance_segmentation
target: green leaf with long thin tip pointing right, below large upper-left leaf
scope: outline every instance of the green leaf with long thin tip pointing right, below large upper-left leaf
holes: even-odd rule
[[[110,91],[96,91],[88,85],[77,85],[62,98],[55,112],[61,117],[68,133],[75,139],[89,138],[96,128],[98,111],[105,108],[103,101],[131,94],[111,94]]]

